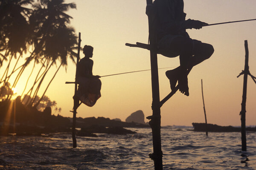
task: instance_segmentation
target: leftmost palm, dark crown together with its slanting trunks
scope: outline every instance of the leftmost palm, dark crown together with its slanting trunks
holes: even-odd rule
[[[26,51],[27,42],[30,35],[30,28],[27,21],[27,17],[31,12],[31,9],[25,8],[28,4],[31,4],[33,0],[1,0],[0,1],[0,67],[3,64],[3,60],[7,60],[7,56],[10,55],[9,63],[5,69],[1,83],[4,82],[5,86],[7,79],[9,79],[8,71],[10,63],[13,57],[17,58],[17,53],[20,56],[23,51]],[[5,52],[4,52],[5,51]],[[4,52],[5,54],[2,54]],[[20,58],[20,57],[19,57]],[[17,62],[16,62],[17,64]],[[15,66],[16,66],[15,64]],[[2,92],[0,91],[0,94]]]

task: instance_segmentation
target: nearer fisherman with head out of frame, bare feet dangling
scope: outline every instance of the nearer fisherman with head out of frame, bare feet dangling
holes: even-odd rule
[[[166,71],[173,90],[179,84],[181,93],[189,96],[189,70],[211,57],[214,52],[212,45],[193,40],[186,29],[200,29],[207,23],[198,20],[185,20],[183,0],[155,0],[157,13],[157,45],[158,53],[165,57],[180,56],[180,66]]]

